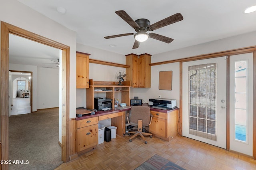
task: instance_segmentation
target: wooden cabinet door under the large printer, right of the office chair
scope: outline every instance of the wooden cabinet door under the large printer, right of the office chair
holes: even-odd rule
[[[152,123],[150,125],[150,132],[159,136],[166,137],[166,119],[153,117]]]

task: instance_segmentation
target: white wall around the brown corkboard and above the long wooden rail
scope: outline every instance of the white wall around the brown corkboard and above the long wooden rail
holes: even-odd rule
[[[171,45],[171,44],[170,44]],[[152,55],[151,63],[160,61],[168,61],[173,59],[192,57],[201,54],[215,53],[220,51],[226,51],[231,49],[238,49],[242,47],[250,47],[256,45],[256,32],[248,34],[242,34],[222,40],[208,42],[204,44],[194,45],[174,51],[168,51],[166,53],[160,53]],[[158,90],[158,74],[159,71],[172,71],[172,90]],[[158,97],[162,95],[162,98],[176,99],[177,107],[180,106],[180,65],[179,63],[169,63],[164,65],[155,65],[151,67],[151,88],[140,89],[131,88],[130,97],[138,96],[142,98],[144,102],[148,103],[148,99],[152,97]]]

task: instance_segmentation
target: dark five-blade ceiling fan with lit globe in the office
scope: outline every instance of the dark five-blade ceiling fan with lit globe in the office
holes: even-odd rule
[[[136,33],[135,34],[134,33],[118,34],[118,35],[114,35],[114,36],[106,36],[104,38],[109,39],[109,38],[134,35],[135,42],[132,47],[133,49],[138,48],[139,42],[144,42],[148,38],[153,38],[153,39],[165,42],[165,43],[172,42],[173,41],[172,38],[168,38],[166,36],[161,36],[161,35],[155,34],[155,33],[147,34],[146,32],[154,31],[158,28],[162,28],[164,26],[168,26],[170,24],[173,24],[175,22],[183,20],[183,16],[180,13],[177,13],[177,14],[169,16],[163,20],[160,20],[160,21],[150,25],[150,21],[147,19],[144,19],[144,18],[141,18],[141,19],[138,19],[135,21],[132,20],[132,18],[124,10],[116,11],[116,14],[118,14],[118,16],[120,16],[124,21],[126,21],[130,26],[132,26],[132,28],[134,28]]]

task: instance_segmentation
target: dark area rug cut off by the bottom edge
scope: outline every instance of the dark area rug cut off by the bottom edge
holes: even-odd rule
[[[155,154],[135,170],[185,170],[185,169]]]

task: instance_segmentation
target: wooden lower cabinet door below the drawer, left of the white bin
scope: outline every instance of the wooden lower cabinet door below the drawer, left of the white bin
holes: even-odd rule
[[[77,129],[77,152],[96,146],[98,143],[98,124]]]

